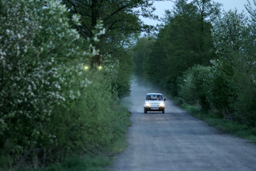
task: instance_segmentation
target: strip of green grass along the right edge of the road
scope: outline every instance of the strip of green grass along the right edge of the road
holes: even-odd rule
[[[192,116],[199,118],[209,124],[209,126],[218,128],[225,133],[233,134],[241,138],[252,140],[256,143],[256,128],[247,128],[243,124],[222,118],[221,115],[212,111],[202,111],[197,106],[188,105],[178,97],[171,97],[172,101]]]

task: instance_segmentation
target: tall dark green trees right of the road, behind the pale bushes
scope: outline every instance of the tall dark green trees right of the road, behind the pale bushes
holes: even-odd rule
[[[147,48],[150,50],[140,49],[134,55],[139,59],[137,56],[143,56],[140,54],[147,54],[147,58],[134,59],[135,66],[140,66],[139,69],[135,67],[135,72],[144,66],[140,73],[143,79],[170,91],[172,95],[178,95],[177,77],[193,65],[207,65],[214,56],[210,51],[213,47],[211,20],[205,17],[202,21],[197,8],[196,2],[177,1],[172,11],[166,11],[162,19],[165,25],[160,26],[156,40]],[[211,17],[214,16],[212,14]]]

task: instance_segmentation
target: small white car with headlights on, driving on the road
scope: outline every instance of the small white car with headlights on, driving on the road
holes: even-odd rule
[[[149,93],[144,101],[144,113],[148,111],[162,111],[165,113],[165,101],[162,94]]]

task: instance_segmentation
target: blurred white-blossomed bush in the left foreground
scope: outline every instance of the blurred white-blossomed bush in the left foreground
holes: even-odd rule
[[[90,83],[74,78],[83,74],[82,65],[67,64],[83,55],[72,43],[79,34],[70,27],[67,9],[57,1],[43,5],[25,0],[1,4],[0,141],[13,154],[56,143],[46,123],[57,105],[65,107],[67,98],[80,95],[79,89],[72,92],[74,86],[83,89]]]

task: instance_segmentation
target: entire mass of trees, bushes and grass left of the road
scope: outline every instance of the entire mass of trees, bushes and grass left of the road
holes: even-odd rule
[[[101,170],[124,150],[131,123],[120,99],[130,94],[130,46],[144,24],[106,8],[109,19],[96,15],[85,36],[86,12],[74,10],[93,13],[95,2],[0,1],[0,170]],[[129,11],[136,3],[152,6]],[[109,29],[119,13],[138,28]]]

